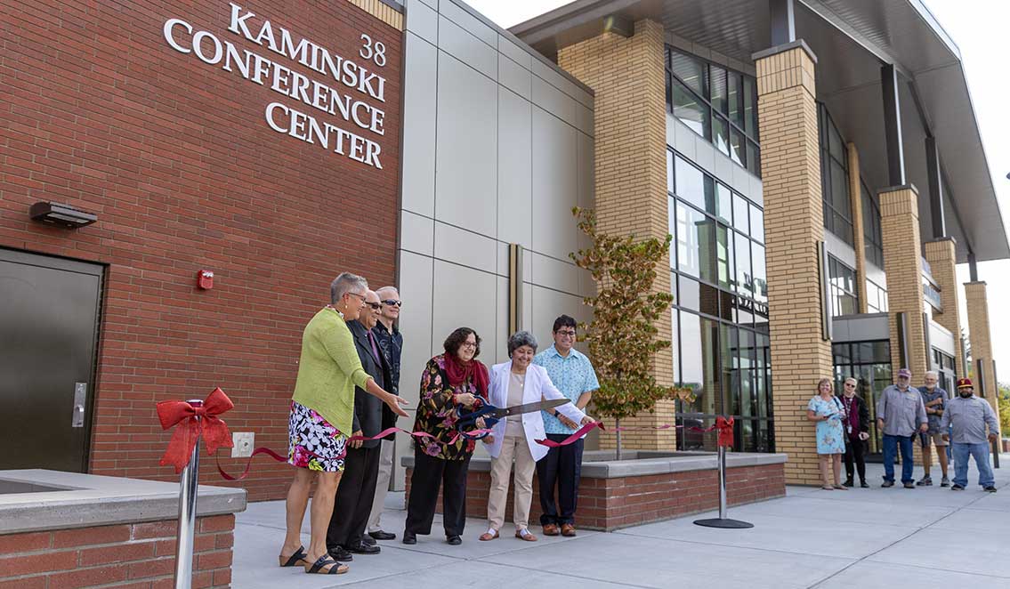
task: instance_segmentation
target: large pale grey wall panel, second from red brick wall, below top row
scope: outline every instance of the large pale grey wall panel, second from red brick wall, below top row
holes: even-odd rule
[[[495,215],[474,211],[497,208],[498,84],[443,52],[437,126],[434,217],[493,237]]]

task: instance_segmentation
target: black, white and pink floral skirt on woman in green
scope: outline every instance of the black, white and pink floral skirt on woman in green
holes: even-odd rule
[[[288,464],[300,469],[343,471],[347,436],[305,405],[291,402],[288,420]]]

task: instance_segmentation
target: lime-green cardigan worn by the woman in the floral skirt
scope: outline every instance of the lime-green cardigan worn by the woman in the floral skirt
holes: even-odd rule
[[[343,318],[325,307],[302,333],[302,356],[292,399],[315,409],[326,421],[350,435],[355,417],[355,385],[365,388],[371,379],[355,349],[355,338]]]

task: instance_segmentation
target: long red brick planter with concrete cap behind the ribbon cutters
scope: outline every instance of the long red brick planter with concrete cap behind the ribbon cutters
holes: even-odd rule
[[[592,458],[593,453],[586,453]],[[671,519],[717,509],[718,476],[714,455],[638,453],[649,456],[630,461],[585,462],[579,487],[576,524],[589,529],[613,530],[629,525]],[[742,505],[786,494],[785,455],[730,454],[726,489],[729,505]],[[407,496],[413,457],[407,467]],[[467,514],[485,517],[491,486],[490,461],[475,458],[467,477]],[[530,523],[539,522],[539,486],[533,477]],[[438,499],[441,509],[441,497]],[[512,488],[505,520],[512,517]]]

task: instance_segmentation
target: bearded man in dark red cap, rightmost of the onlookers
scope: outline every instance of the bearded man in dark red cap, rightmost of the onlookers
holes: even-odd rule
[[[952,491],[964,491],[968,485],[968,457],[979,467],[979,484],[990,493],[996,492],[996,477],[989,466],[989,441],[999,438],[1000,426],[993,408],[985,399],[975,396],[972,379],[957,381],[957,396],[947,401],[947,408],[940,420],[940,429],[953,426],[953,486]],[[986,426],[989,434],[986,434]],[[944,433],[943,438],[950,435]],[[988,441],[987,441],[988,440]]]

